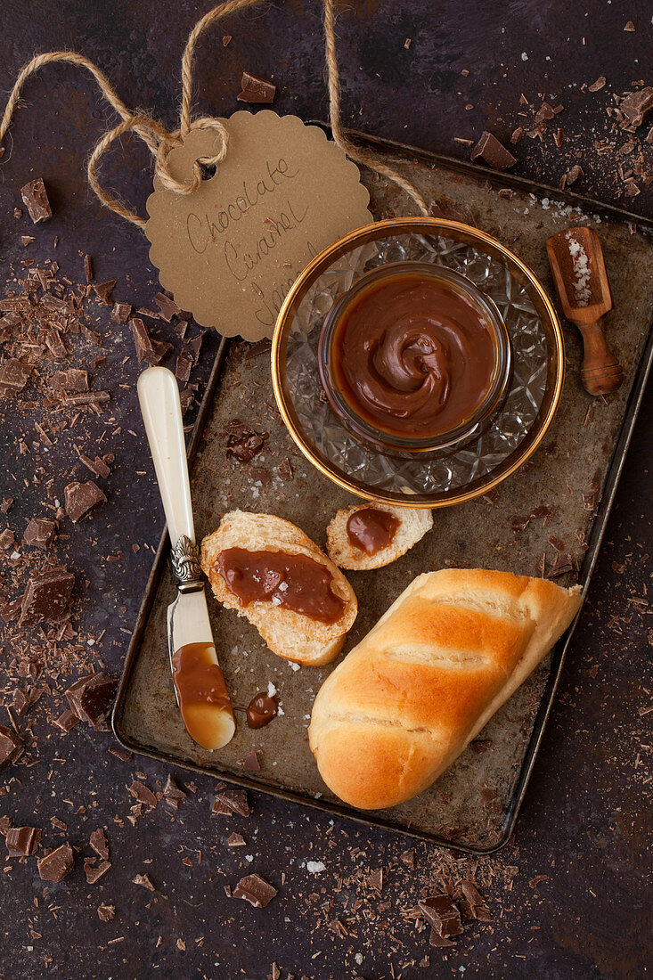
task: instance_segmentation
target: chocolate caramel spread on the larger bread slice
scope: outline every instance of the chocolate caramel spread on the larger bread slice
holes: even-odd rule
[[[320,622],[336,622],[345,602],[332,589],[328,568],[305,555],[226,548],[214,569],[241,606],[270,602]]]

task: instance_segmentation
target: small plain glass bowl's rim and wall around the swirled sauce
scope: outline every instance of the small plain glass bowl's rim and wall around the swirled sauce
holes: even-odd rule
[[[471,415],[461,419],[458,425],[435,435],[418,437],[378,428],[356,411],[355,406],[343,392],[338,378],[335,339],[341,319],[347,315],[362,292],[374,287],[383,279],[395,279],[400,275],[419,277],[422,281],[434,280],[457,293],[477,312],[478,319],[486,325],[492,340],[494,364],[490,384],[482,401]],[[397,451],[404,454],[432,453],[468,442],[490,422],[507,393],[512,371],[512,349],[506,325],[501,319],[496,304],[470,279],[446,266],[426,262],[397,262],[366,272],[351,289],[336,299],[326,314],[322,326],[318,343],[318,369],[331,411],[340,419],[342,425],[364,444],[372,446],[377,452],[385,455],[394,455]]]

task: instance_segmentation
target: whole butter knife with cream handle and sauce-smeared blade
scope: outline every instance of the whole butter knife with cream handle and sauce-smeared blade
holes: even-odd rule
[[[195,527],[176,377],[147,368],[138,378],[138,401],[159,482],[177,596],[168,607],[168,647],[176,702],[190,737],[203,749],[222,749],[235,731],[233,710],[218,662]]]

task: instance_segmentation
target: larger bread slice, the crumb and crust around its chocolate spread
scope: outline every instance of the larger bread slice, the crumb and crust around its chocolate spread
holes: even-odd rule
[[[231,548],[303,556],[323,565],[331,578],[332,593],[344,603],[339,618],[335,622],[322,622],[274,605],[268,599],[241,606],[238,596],[230,590],[216,566],[222,553]],[[269,514],[232,511],[223,517],[218,529],[202,541],[201,561],[216,599],[227,609],[246,616],[279,657],[295,663],[321,664],[332,661],[341,650],[358,612],[354,590],[318,546],[288,520]]]

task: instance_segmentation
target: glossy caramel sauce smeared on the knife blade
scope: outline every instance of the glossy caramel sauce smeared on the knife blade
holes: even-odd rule
[[[179,711],[187,731],[196,742],[211,741],[215,715],[198,711],[210,706],[232,714],[223,671],[216,663],[216,651],[206,643],[187,643],[173,657],[173,682]]]

